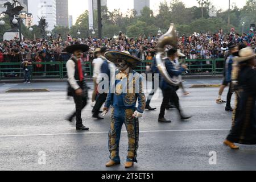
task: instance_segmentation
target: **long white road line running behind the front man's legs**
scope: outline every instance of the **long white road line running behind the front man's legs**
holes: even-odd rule
[[[185,131],[229,131],[230,129],[195,129],[195,130],[149,130],[139,131],[139,133],[164,133],[164,132],[185,132]],[[51,137],[63,135],[93,135],[93,134],[108,134],[109,131],[89,132],[89,133],[53,133],[53,134],[28,134],[28,135],[0,135],[0,138],[15,138],[15,137]],[[127,133],[122,131],[122,133]]]

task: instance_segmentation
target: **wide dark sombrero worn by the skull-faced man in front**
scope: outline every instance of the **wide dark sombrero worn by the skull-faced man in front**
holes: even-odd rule
[[[133,68],[143,63],[138,57],[130,55],[128,51],[108,51],[105,53],[105,57],[114,64],[117,63],[117,60],[125,60]]]

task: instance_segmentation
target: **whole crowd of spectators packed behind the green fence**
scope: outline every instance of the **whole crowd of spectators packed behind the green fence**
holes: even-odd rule
[[[156,54],[157,41],[158,37],[154,35],[148,35],[147,37],[138,36],[137,39],[134,39],[127,38],[122,32],[119,32],[119,36],[116,38],[104,39],[92,37],[87,39],[72,39],[70,35],[64,38],[59,35],[56,39],[52,37],[48,39],[38,38],[35,40],[24,39],[20,42],[18,38],[14,38],[14,40],[3,40],[3,42],[0,42],[0,63],[20,63],[22,64],[22,68],[27,69],[31,67],[30,63],[32,62],[65,62],[71,55],[63,52],[63,49],[75,42],[87,44],[90,47],[89,52],[84,55],[84,61],[93,60],[93,51],[97,47],[129,51],[131,55],[140,57],[142,60],[151,61]],[[251,29],[248,34],[243,33],[239,35],[235,32],[234,28],[230,30],[229,34],[224,34],[222,29],[220,29],[217,34],[210,34],[209,32],[197,34],[195,32],[193,35],[183,35],[178,38],[179,49],[184,53],[185,59],[191,60],[224,58],[228,54],[228,44],[230,42],[243,43],[247,46],[255,47],[255,31]],[[168,48],[167,46],[166,49]],[[49,64],[47,67],[50,70],[58,69],[58,65],[55,64]],[[12,67],[9,68],[11,69]],[[42,64],[34,65],[34,71],[40,72],[43,68],[44,66]],[[9,72],[5,76],[16,75],[15,72],[13,74]]]

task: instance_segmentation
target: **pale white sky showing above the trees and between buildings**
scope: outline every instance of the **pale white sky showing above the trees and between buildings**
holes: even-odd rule
[[[85,10],[88,10],[88,0],[68,0],[69,1],[69,15],[73,16],[73,22],[76,22],[77,17],[82,14]],[[139,0],[138,0],[139,1]],[[158,5],[160,2],[171,2],[171,0],[150,0],[150,8],[154,11],[158,11]],[[187,7],[198,6],[196,0],[181,0]],[[229,0],[211,0],[213,5],[217,9],[228,9]],[[238,7],[245,5],[245,0],[230,0],[231,5],[236,3]],[[108,0],[109,10],[120,9],[123,13],[127,9],[133,9],[133,0]]]

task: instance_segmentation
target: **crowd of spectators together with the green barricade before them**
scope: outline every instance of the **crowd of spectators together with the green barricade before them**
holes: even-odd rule
[[[32,78],[56,77],[63,79],[67,76],[65,63],[71,57],[69,53],[62,52],[63,49],[75,42],[87,44],[89,52],[84,54],[84,69],[86,76],[92,77],[92,60],[94,50],[99,47],[107,47],[110,50],[129,51],[131,55],[144,60],[137,71],[146,72],[156,54],[158,38],[138,36],[137,39],[127,38],[120,33],[117,39],[71,39],[67,40],[50,37],[46,39],[19,39],[0,42],[0,78],[22,78],[24,74]],[[190,74],[212,74],[222,73],[224,60],[228,55],[228,44],[230,42],[246,44],[255,48],[255,32],[250,30],[249,34],[241,37],[235,32],[223,34],[220,29],[217,34],[201,33],[178,38],[178,47],[184,53],[183,63],[188,65]],[[166,50],[171,48],[166,46]]]

